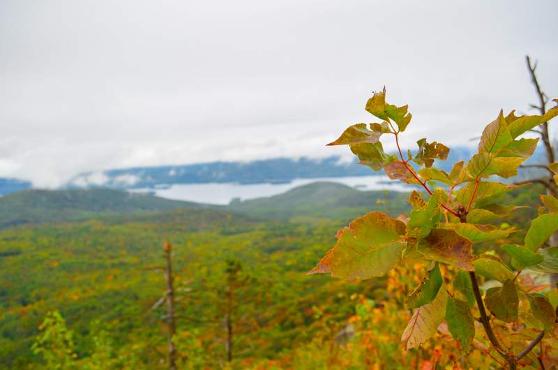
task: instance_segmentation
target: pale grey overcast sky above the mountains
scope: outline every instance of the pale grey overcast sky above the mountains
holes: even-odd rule
[[[0,177],[352,156],[386,86],[402,141],[449,146],[558,98],[558,2],[1,1]],[[558,124],[558,122],[557,122]],[[473,143],[474,144],[474,143]],[[389,141],[384,147],[391,147]]]

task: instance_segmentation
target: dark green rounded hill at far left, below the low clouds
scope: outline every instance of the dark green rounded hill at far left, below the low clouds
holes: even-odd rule
[[[0,229],[28,223],[83,221],[99,215],[161,212],[186,207],[206,206],[107,188],[26,189],[0,198]]]

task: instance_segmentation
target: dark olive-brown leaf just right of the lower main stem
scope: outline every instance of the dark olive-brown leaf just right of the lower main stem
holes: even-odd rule
[[[506,323],[519,323],[519,296],[512,279],[506,280],[502,287],[488,289],[484,303],[496,318]]]

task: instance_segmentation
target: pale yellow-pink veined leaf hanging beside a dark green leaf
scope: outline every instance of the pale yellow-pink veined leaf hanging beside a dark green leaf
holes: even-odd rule
[[[418,307],[401,336],[405,350],[423,344],[430,336],[436,334],[437,327],[444,321],[448,292],[445,288],[438,291],[436,298],[429,304]]]

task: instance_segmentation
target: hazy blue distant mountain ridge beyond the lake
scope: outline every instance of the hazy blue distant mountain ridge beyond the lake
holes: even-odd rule
[[[473,152],[467,147],[452,149],[448,161],[437,161],[440,169],[451,171],[457,161],[467,161]],[[213,162],[193,165],[124,168],[103,172],[87,172],[70,180],[65,188],[156,188],[171,184],[237,183],[281,184],[294,179],[375,175],[365,165],[344,163],[340,157],[310,159],[273,158],[252,162]]]

